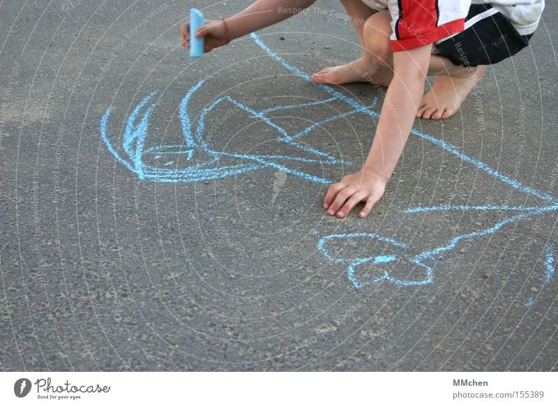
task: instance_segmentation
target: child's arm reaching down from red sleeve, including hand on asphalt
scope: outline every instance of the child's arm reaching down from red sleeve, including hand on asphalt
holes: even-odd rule
[[[330,186],[324,207],[344,217],[359,202],[359,216],[368,216],[384,195],[386,183],[407,142],[424,91],[432,45],[393,53],[394,77],[386,92],[378,128],[362,169]]]

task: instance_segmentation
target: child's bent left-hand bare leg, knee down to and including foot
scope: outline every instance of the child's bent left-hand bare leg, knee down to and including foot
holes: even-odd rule
[[[312,80],[326,84],[374,80],[380,86],[387,86],[393,77],[389,12],[375,12],[361,0],[342,0],[342,3],[352,17],[354,28],[361,40],[363,56],[346,65],[325,68],[312,75]]]

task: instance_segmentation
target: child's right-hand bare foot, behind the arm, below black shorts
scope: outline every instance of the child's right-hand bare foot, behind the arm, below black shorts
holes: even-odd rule
[[[485,66],[476,66],[463,76],[439,76],[418,104],[416,116],[423,119],[447,119],[453,116],[463,100],[485,73]]]

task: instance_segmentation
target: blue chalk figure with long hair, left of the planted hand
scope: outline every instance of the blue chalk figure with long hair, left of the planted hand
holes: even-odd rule
[[[254,36],[254,38],[257,37]],[[258,41],[259,38],[256,39],[257,43]],[[260,42],[258,45],[266,49],[263,43]],[[288,68],[296,69],[291,66],[288,66]],[[296,73],[299,74],[299,71],[296,70]],[[303,77],[303,79],[309,81],[310,77]],[[324,100],[294,105],[279,105],[263,110],[258,110],[257,107],[252,108],[250,105],[240,103],[229,96],[221,97],[204,108],[201,114],[199,114],[197,121],[193,122],[188,113],[188,106],[195,97],[197,91],[202,89],[203,84],[203,80],[195,84],[181,101],[179,113],[184,137],[183,144],[149,146],[147,140],[149,119],[156,107],[153,100],[157,91],[153,91],[146,96],[135,107],[132,114],[128,116],[121,148],[123,149],[123,154],[118,151],[118,148],[114,147],[114,137],[110,137],[107,130],[111,110],[108,109],[105,112],[100,122],[100,133],[107,149],[114,155],[116,160],[125,165],[130,171],[135,172],[142,180],[158,182],[196,182],[236,176],[255,170],[271,169],[273,172],[285,172],[285,174],[299,176],[302,179],[315,183],[329,184],[333,182],[329,179],[324,179],[322,176],[296,169],[289,164],[303,163],[305,165],[323,166],[351,165],[351,163],[343,162],[335,158],[335,156],[331,156],[329,153],[325,153],[320,149],[305,144],[303,138],[326,123],[344,119],[353,114],[372,115],[374,113],[370,108],[376,103],[376,100],[374,100],[370,106],[362,105],[362,103],[348,98],[330,87],[320,85],[330,93],[329,97],[324,98]],[[348,102],[350,110],[334,114],[317,123],[312,123],[310,126],[293,134],[289,134],[285,128],[282,128],[282,126],[274,122],[273,119],[269,118],[269,114],[280,110],[294,110],[304,107],[325,105],[326,103],[331,103],[336,100],[340,100],[344,103]],[[214,149],[206,140],[206,121],[208,117],[213,114],[213,110],[223,105],[228,105],[229,108],[232,107],[234,110],[243,112],[252,119],[264,123],[269,129],[276,133],[276,142],[291,146],[295,150],[294,153],[290,153],[289,155],[278,155],[274,153],[234,153]],[[270,147],[270,149],[274,148]],[[296,153],[297,151],[299,154]],[[162,165],[158,165],[157,163],[153,164],[153,160],[161,158],[165,158]],[[222,160],[226,160],[228,164],[222,165]]]

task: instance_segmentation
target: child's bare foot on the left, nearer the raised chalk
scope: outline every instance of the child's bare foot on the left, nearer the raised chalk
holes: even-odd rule
[[[376,83],[379,86],[388,86],[391,77],[388,74],[379,75],[378,72],[370,73],[370,63],[364,58],[356,59],[346,65],[325,68],[312,75],[316,83],[345,84],[354,82]]]

